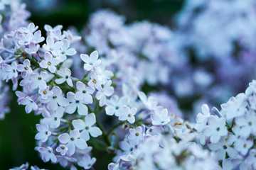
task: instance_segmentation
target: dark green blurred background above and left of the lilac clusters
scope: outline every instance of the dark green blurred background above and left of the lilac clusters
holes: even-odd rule
[[[91,13],[100,8],[109,8],[125,16],[127,23],[149,20],[174,27],[174,15],[181,9],[183,0],[24,0],[29,19],[43,30],[45,24],[56,26],[75,26],[82,30]],[[10,84],[11,86],[11,84]],[[36,123],[40,115],[26,114],[24,106],[18,106],[16,96],[12,96],[11,113],[0,120],[0,169],[9,169],[28,162],[44,169],[63,169],[59,164],[43,163],[34,150]],[[106,152],[93,150],[97,158],[95,169],[107,169],[111,157]]]

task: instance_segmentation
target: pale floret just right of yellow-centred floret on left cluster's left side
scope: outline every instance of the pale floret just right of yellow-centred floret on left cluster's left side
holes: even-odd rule
[[[67,98],[63,97],[63,91],[61,91],[60,87],[54,86],[53,89],[53,97],[47,98],[47,100],[42,101],[43,103],[48,103],[47,108],[50,111],[55,111],[59,106],[68,106],[69,102]]]

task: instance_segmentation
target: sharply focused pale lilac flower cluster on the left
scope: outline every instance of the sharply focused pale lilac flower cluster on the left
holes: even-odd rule
[[[43,116],[36,125],[35,137],[43,162],[90,169],[95,158],[90,157],[92,147],[87,146],[87,141],[90,136],[102,135],[100,128],[93,126],[96,116],[92,112],[105,106],[107,97],[114,93],[111,77],[97,72],[102,64],[97,51],[90,56],[80,55],[85,63],[84,76],[80,80],[72,77],[67,59],[76,53],[70,48],[68,38],[72,35],[62,32],[61,26],[46,25],[45,29],[47,38],[41,36],[38,26],[29,23],[2,40],[6,52],[6,58],[1,58],[2,79],[11,80],[14,90],[23,87],[16,95],[18,104],[26,106],[26,113],[35,111]],[[4,45],[7,40],[12,42],[9,48]],[[46,43],[40,45],[44,40]]]

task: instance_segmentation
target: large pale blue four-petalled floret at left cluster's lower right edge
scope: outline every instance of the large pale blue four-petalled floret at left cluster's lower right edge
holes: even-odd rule
[[[92,127],[96,123],[96,118],[94,113],[90,113],[85,116],[85,122],[83,120],[73,120],[72,124],[75,129],[82,130],[81,137],[85,141],[90,140],[90,135],[92,137],[98,137],[102,135],[100,128]],[[89,135],[90,134],[90,135]]]

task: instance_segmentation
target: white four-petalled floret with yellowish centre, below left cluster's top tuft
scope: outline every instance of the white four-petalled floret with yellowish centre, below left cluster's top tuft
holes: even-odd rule
[[[44,59],[39,65],[40,67],[44,69],[49,69],[50,72],[55,73],[56,72],[56,65],[60,63],[60,60],[57,58],[53,58],[53,55],[50,54],[50,52],[46,52],[44,55]]]

